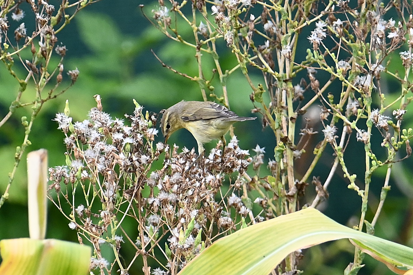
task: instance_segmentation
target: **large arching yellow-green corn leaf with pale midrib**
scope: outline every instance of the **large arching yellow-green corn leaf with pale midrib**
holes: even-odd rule
[[[336,239],[352,239],[399,274],[413,269],[413,249],[348,228],[313,208],[264,221],[214,242],[179,275],[268,275],[288,254]]]

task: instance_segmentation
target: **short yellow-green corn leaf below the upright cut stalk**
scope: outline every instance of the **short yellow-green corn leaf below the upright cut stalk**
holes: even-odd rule
[[[57,239],[3,239],[1,275],[86,275],[91,249]]]

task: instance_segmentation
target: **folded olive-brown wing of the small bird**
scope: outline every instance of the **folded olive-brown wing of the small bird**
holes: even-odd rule
[[[233,111],[228,110],[226,107],[214,103],[206,102],[209,104],[204,104],[202,106],[194,106],[191,110],[185,111],[181,119],[183,121],[197,121],[206,119],[216,119],[216,118],[233,118],[236,119],[238,116]]]

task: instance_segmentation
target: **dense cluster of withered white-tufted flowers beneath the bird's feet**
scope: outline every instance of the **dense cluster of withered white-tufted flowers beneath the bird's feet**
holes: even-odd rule
[[[156,260],[162,268],[154,274],[176,274],[217,237],[235,230],[241,217],[254,219],[240,197],[246,183],[242,174],[252,157],[240,149],[236,137],[224,152],[218,143],[191,166],[197,157],[194,149],[155,144],[156,114],[135,102],[132,115],[112,119],[102,111],[100,97],[95,98],[97,107],[84,121],[56,115],[65,134],[66,165],[49,169],[50,199],[69,218],[79,240],[93,244],[92,268],[111,274],[116,264],[127,274],[129,263],[118,259],[128,242],[144,263],[155,257],[154,249],[161,249],[164,254]],[[263,149],[256,152],[262,163]],[[123,227],[125,220],[132,225]],[[113,263],[101,254],[102,245],[114,248]]]

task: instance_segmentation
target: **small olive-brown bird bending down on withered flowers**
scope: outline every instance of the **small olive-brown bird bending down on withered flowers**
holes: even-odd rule
[[[221,138],[225,147],[224,135],[237,121],[253,120],[256,117],[237,116],[233,111],[215,102],[184,101],[176,103],[164,111],[161,119],[165,143],[178,129],[191,132],[198,143],[198,154],[204,152],[204,143]],[[198,156],[198,157],[199,157]]]

